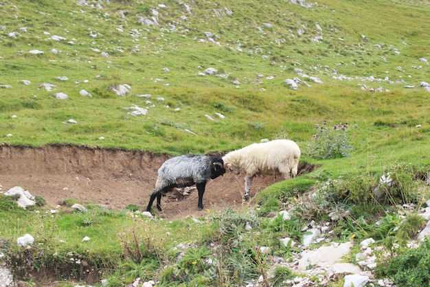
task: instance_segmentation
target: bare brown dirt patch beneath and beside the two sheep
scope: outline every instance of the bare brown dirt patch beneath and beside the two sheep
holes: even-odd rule
[[[157,179],[157,170],[171,156],[151,151],[124,151],[75,145],[47,145],[43,147],[14,147],[0,145],[0,184],[2,191],[20,186],[32,195],[41,196],[49,206],[64,200],[94,202],[124,209],[128,204],[141,206],[144,211]],[[309,167],[299,167],[308,172]],[[256,192],[280,181],[272,176],[253,180],[251,198]],[[197,207],[197,192],[181,195],[172,191],[161,199],[160,215],[179,219],[188,215],[200,216],[206,209],[235,208],[242,202],[242,176],[226,173],[207,183],[203,204]],[[155,208],[155,204],[153,205]]]

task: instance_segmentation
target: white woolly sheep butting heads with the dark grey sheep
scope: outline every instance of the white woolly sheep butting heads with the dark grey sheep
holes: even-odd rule
[[[223,156],[224,167],[236,175],[245,173],[245,200],[249,200],[253,178],[258,175],[281,174],[286,180],[295,178],[300,148],[293,140],[271,140],[255,143]]]

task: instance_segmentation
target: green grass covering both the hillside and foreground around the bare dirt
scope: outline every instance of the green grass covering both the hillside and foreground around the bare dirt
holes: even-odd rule
[[[179,2],[166,3],[166,8],[158,4],[111,1],[102,3],[100,9],[79,6],[78,1],[71,0],[5,1],[0,6],[1,26],[5,27],[0,30],[0,85],[11,85],[12,89],[0,89],[0,142],[32,147],[84,144],[178,155],[231,151],[262,138],[273,139],[283,129],[283,135],[301,147],[301,162],[318,168],[258,193],[258,215],[301,202],[309,190],[327,180],[345,180],[354,193],[341,200],[353,200],[366,191],[367,182],[387,170],[396,172],[405,187],[410,187],[414,194],[405,194],[416,196],[417,203],[422,203],[418,195],[428,195],[422,180],[409,179],[414,178],[411,174],[425,175],[430,166],[429,92],[420,87],[420,81],[428,82],[428,64],[420,59],[429,60],[429,43],[422,36],[430,27],[429,1],[322,0],[312,2],[311,8],[290,1],[198,1],[190,3],[192,13]],[[150,19],[152,9],[159,12],[159,25],[139,23],[139,17]],[[304,34],[297,29],[303,29]],[[10,32],[15,32],[16,38]],[[204,32],[214,34],[217,43],[208,41]],[[54,35],[67,40],[49,39]],[[317,42],[313,40],[316,36],[323,38]],[[52,49],[60,53],[50,52]],[[32,55],[30,50],[42,50],[44,54]],[[165,72],[166,67],[169,72]],[[208,67],[221,76],[199,74]],[[299,75],[298,70],[319,78],[323,84]],[[58,81],[60,76],[68,80]],[[339,76],[345,78],[336,80]],[[286,87],[284,80],[295,77],[310,87]],[[370,81],[370,77],[375,80]],[[24,85],[23,80],[31,84]],[[47,91],[42,83],[56,87]],[[131,85],[126,96],[109,90],[120,84]],[[362,90],[362,85],[382,87],[384,92]],[[80,96],[81,89],[93,97]],[[54,94],[58,92],[69,99],[56,99]],[[138,97],[142,94],[151,98]],[[128,114],[130,110],[124,108],[133,105],[148,107],[149,114]],[[174,111],[177,108],[180,110]],[[78,123],[67,123],[69,119]],[[315,124],[321,125],[324,120],[328,127],[348,123],[348,139],[353,147],[349,157],[321,160],[310,156],[309,146],[317,133]],[[345,196],[341,188],[336,192],[331,195]],[[400,188],[398,192],[405,190]],[[401,200],[396,196],[391,202],[355,202],[359,207],[351,208],[352,214],[366,219],[385,217],[384,208],[392,209],[390,204]],[[302,209],[306,215],[317,214],[326,220],[328,209],[351,207],[329,203],[333,205],[326,209]],[[17,262],[23,264],[30,254],[14,248],[14,240],[33,233],[36,241],[43,243],[38,246],[38,251],[46,254],[40,257],[41,262],[54,258],[57,252],[63,256],[54,260],[58,270],[67,270],[67,260],[62,261],[67,253],[80,253],[91,266],[112,275],[111,282],[116,283],[111,286],[130,283],[121,281],[115,269],[129,278],[158,278],[161,286],[237,285],[268,268],[253,246],[273,244],[273,253],[286,252],[279,242],[275,243],[280,234],[267,235],[261,228],[264,224],[256,227],[252,238],[240,224],[236,225],[235,220],[242,217],[255,220],[247,211],[215,217],[214,226],[232,224],[232,231],[249,238],[249,242],[241,251],[237,246],[218,249],[210,256],[215,256],[219,264],[208,267],[194,266],[193,260],[207,259],[208,245],[228,242],[229,237],[218,234],[214,222],[205,218],[200,225],[190,219],[168,222],[138,216],[134,221],[131,213],[98,208],[88,213],[51,215],[43,207],[17,209],[3,196],[0,204],[3,252],[19,253]],[[256,222],[262,223],[260,220]],[[350,217],[339,225],[343,233],[339,238],[343,240],[372,230],[371,225],[355,228],[348,222],[357,222],[357,218]],[[390,230],[390,224],[387,220],[383,228]],[[416,217],[408,217],[403,236],[414,235],[420,224]],[[139,255],[139,248],[133,249],[132,244],[131,253],[127,253],[124,240],[118,237],[121,233],[146,244],[142,264],[129,262],[128,256]],[[91,241],[82,243],[84,236],[91,237]],[[58,244],[60,240],[65,243]],[[198,252],[188,251],[178,264],[174,259],[178,254],[172,250],[182,242],[194,242]],[[166,268],[158,272],[154,266],[157,262]],[[150,274],[144,273],[146,269]],[[195,269],[204,271],[203,275]],[[76,270],[74,276],[82,276],[82,270]],[[26,275],[27,271],[22,272]],[[286,279],[291,273],[278,268],[275,275]],[[393,276],[407,280],[403,274]]]

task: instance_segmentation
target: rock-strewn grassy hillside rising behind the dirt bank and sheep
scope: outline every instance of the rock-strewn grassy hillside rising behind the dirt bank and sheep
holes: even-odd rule
[[[386,132],[425,141],[428,3],[302,3],[6,1],[0,84],[12,88],[1,89],[1,140],[187,153],[233,149],[284,128],[306,146],[315,123],[328,120],[368,135],[395,125]],[[205,74],[209,67],[218,72]],[[310,87],[288,89],[284,80],[295,77]],[[123,84],[131,86],[127,96],[109,90]],[[56,99],[59,92],[69,100]],[[148,115],[131,116],[124,107],[133,105]]]

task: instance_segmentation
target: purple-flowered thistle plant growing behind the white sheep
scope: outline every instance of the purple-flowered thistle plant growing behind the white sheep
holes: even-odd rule
[[[353,150],[348,138],[348,123],[339,123],[333,127],[327,127],[327,121],[323,125],[316,124],[317,133],[313,135],[313,141],[308,146],[308,154],[312,158],[342,158],[350,156]]]

